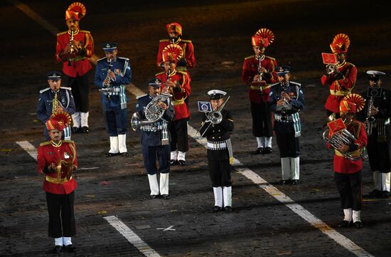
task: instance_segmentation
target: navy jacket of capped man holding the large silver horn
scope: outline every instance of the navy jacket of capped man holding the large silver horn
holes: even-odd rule
[[[137,98],[136,110],[139,113],[139,117],[141,120],[146,120],[144,107],[151,102],[151,95],[141,95]],[[173,111],[173,104],[171,100],[168,100],[169,103],[167,110],[164,112],[164,115],[161,117],[161,120],[141,126],[141,145],[144,147],[157,147],[161,145],[161,139],[163,137],[168,138],[168,142],[171,142],[171,136],[168,132],[168,122],[172,122],[175,114]],[[165,135],[164,135],[165,133]],[[168,145],[169,147],[169,145]]]

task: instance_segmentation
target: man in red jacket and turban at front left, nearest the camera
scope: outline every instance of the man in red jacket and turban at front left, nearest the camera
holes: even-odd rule
[[[77,152],[73,141],[61,140],[65,124],[66,117],[62,114],[52,115],[46,121],[50,141],[38,147],[37,168],[45,175],[43,190],[48,203],[48,236],[53,237],[55,243],[51,253],[76,250],[71,237],[76,234],[73,204],[77,182],[72,172],[77,169]]]

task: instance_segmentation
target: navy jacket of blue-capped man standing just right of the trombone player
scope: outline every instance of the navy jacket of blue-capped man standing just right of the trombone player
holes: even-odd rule
[[[277,111],[277,101],[281,99],[282,92],[288,93],[291,98],[289,102],[292,106],[291,110]],[[301,125],[299,119],[299,111],[304,109],[304,94],[301,90],[301,84],[289,81],[288,85],[280,83],[274,84],[270,90],[269,108],[274,112],[274,131],[276,133],[291,132],[292,125],[296,132],[296,136],[300,135]]]

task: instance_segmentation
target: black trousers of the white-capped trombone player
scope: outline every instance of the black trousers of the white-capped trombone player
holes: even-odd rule
[[[231,187],[231,165],[229,159],[208,160],[208,166],[213,187]]]

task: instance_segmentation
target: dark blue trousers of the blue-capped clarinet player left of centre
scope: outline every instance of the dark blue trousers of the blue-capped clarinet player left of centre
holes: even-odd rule
[[[110,109],[103,111],[106,119],[106,130],[110,137],[127,133],[127,108]]]

